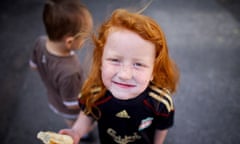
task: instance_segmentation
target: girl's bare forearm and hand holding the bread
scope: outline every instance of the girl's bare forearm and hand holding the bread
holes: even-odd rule
[[[93,122],[91,117],[85,115],[85,113],[81,111],[73,127],[71,129],[62,129],[59,133],[71,136],[74,144],[78,144],[81,137],[92,129]]]

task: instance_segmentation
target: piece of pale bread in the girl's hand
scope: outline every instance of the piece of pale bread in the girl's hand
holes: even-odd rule
[[[73,139],[70,136],[50,131],[38,132],[37,138],[42,140],[44,144],[73,144]]]

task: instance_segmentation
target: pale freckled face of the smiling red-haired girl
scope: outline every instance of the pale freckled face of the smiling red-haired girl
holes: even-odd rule
[[[113,29],[102,56],[102,80],[118,99],[141,94],[152,80],[155,46],[136,33]]]

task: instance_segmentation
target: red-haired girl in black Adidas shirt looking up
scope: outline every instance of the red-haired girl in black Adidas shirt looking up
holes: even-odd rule
[[[173,125],[179,79],[163,31],[150,17],[113,12],[94,38],[93,64],[79,97],[74,144],[96,120],[102,144],[162,144]]]

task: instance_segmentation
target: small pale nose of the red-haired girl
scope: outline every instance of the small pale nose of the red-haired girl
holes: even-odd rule
[[[131,79],[133,76],[132,67],[129,65],[122,65],[119,69],[118,76],[122,80]]]

